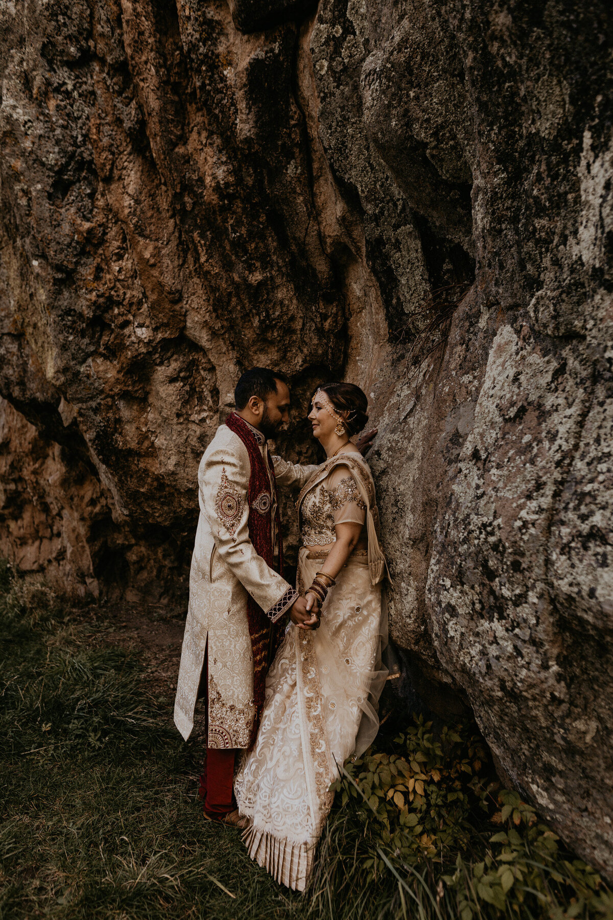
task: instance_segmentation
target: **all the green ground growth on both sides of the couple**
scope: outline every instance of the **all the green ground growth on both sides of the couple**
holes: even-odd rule
[[[494,806],[501,814],[506,809],[513,827],[515,812],[524,815],[521,846],[502,840],[502,818],[484,833],[492,817],[487,810],[473,827],[487,783],[461,763],[472,758],[474,765],[477,754],[483,760],[481,749],[475,754],[473,743],[468,753],[471,741],[461,739],[437,753],[423,721],[402,736],[382,731],[378,752],[346,765],[309,891],[302,896],[279,887],[246,856],[235,829],[204,820],[197,799],[201,741],[182,741],[169,689],[142,655],[118,644],[104,610],[75,608],[5,567],[0,621],[0,920],[613,914],[595,873],[576,869],[569,881],[572,857],[562,850],[546,868],[548,879],[553,871],[562,882],[551,891],[546,884],[540,901],[521,894],[517,867],[524,866],[528,834],[542,835],[536,819],[511,799],[510,811],[508,803]],[[453,799],[457,782],[464,792],[473,784],[464,811],[440,804],[443,792]],[[424,808],[415,783],[424,784]],[[486,794],[494,801],[491,788]],[[502,837],[490,843],[494,831]],[[512,884],[501,902],[496,880],[509,879],[509,871]],[[493,892],[498,906],[479,891]]]

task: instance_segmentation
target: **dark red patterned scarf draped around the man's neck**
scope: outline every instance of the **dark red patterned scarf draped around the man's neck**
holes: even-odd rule
[[[257,511],[258,505],[261,509],[268,507],[272,503],[270,494],[270,482],[275,482],[275,471],[270,457],[268,456],[268,467],[270,469],[270,478],[268,477],[264,457],[260,452],[259,445],[255,439],[254,432],[251,431],[247,423],[234,412],[226,419],[226,425],[238,435],[249,454],[249,463],[251,464],[251,473],[249,475],[249,490],[247,500],[249,501],[249,518],[247,525],[249,527],[249,539],[255,547],[255,552],[261,556],[271,569],[278,571],[279,575],[283,574],[283,544],[281,541],[281,519],[278,511],[277,500],[277,533],[278,533],[278,566],[274,565],[275,547],[272,540],[272,516],[268,510],[266,513]],[[275,498],[277,499],[277,487],[275,489]],[[251,637],[251,648],[254,656],[254,701],[255,701],[255,719],[254,730],[251,736],[251,742],[255,741],[255,735],[262,718],[264,708],[264,691],[266,688],[266,674],[268,664],[270,663],[268,653],[274,654],[277,650],[278,643],[283,634],[283,627],[270,622],[262,608],[255,604],[251,594],[247,594],[247,623],[249,625],[249,636]],[[272,641],[271,641],[272,639]]]

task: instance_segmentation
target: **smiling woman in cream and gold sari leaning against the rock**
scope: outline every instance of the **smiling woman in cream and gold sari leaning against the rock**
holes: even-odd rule
[[[321,627],[289,626],[270,667],[254,747],[234,779],[249,855],[279,882],[304,891],[332,806],[330,785],[379,728],[386,671],[381,580],[385,559],[369,466],[349,440],[368,400],[353,384],[326,384],[309,420],[327,459],[303,485],[297,590],[321,606]],[[280,485],[303,482],[300,466],[275,458]],[[313,617],[314,623],[314,617]]]

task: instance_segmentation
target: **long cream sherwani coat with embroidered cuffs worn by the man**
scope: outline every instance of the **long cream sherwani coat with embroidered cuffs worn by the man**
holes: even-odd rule
[[[251,427],[251,426],[250,426]],[[264,436],[252,428],[267,461]],[[273,458],[281,485],[302,486],[316,466]],[[272,623],[298,597],[288,581],[255,552],[249,539],[247,500],[251,465],[244,443],[221,425],[200,461],[200,515],[189,576],[189,607],[175,701],[175,724],[187,739],[194,725],[204,655],[209,645],[211,748],[245,748],[255,717],[254,669],[247,624],[247,592]],[[269,508],[275,534],[276,488]]]

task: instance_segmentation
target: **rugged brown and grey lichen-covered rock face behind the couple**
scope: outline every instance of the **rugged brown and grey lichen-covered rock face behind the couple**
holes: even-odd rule
[[[357,382],[415,683],[611,878],[607,6],[6,4],[0,550],[180,603],[244,367]]]

